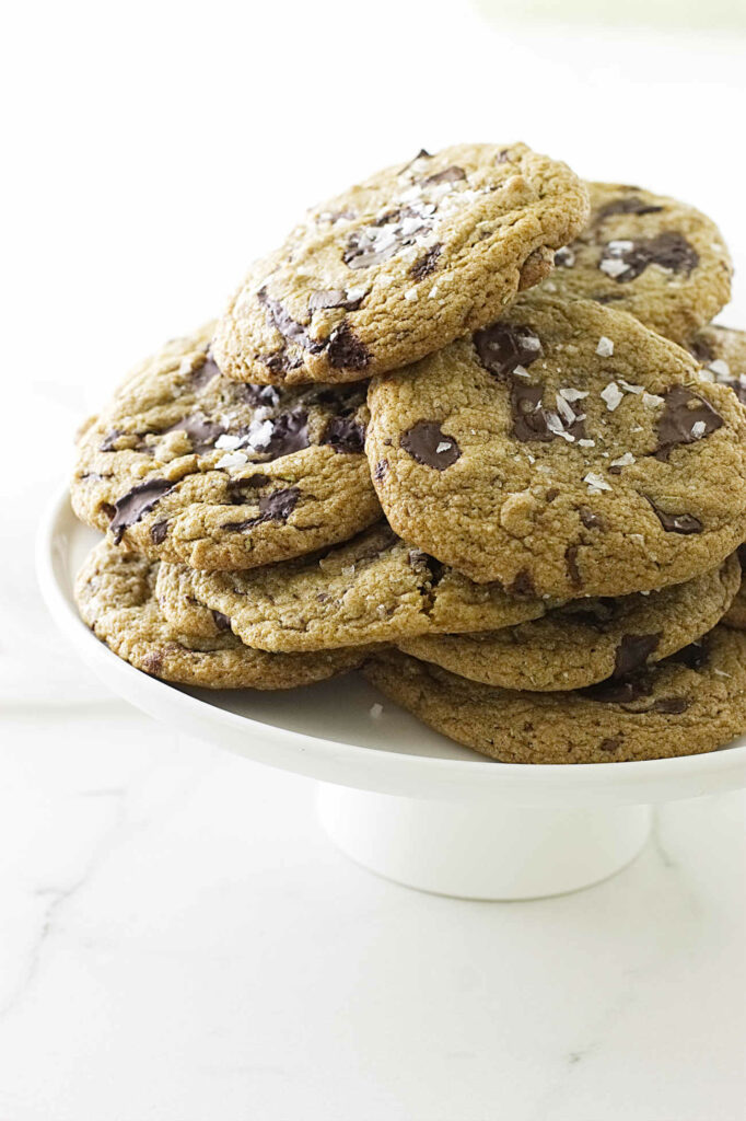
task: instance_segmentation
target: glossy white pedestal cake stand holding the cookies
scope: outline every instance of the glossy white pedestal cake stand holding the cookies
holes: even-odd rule
[[[316,779],[336,844],[410,887],[472,899],[572,891],[640,852],[654,805],[746,785],[746,738],[680,759],[530,767],[458,747],[354,674],[287,693],[167,685],[78,618],[72,584],[95,541],[63,493],[40,525],[37,569],[55,621],[105,685],[171,729]]]

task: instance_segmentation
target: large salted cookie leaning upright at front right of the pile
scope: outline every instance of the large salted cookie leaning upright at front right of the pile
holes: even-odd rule
[[[528,293],[369,405],[393,529],[511,594],[651,591],[746,537],[744,406],[624,313]]]

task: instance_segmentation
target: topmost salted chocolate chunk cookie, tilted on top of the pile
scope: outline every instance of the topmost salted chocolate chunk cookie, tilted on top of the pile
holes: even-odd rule
[[[572,172],[522,143],[421,151],[314,207],[252,266],[213,353],[241,381],[356,381],[484,326],[582,229]]]

